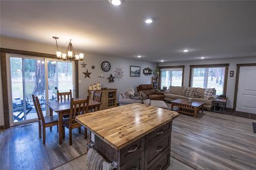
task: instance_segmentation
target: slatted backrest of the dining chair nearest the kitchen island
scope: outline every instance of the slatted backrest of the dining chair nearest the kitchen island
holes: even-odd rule
[[[72,125],[72,119],[73,120],[75,119],[76,113],[78,114],[88,113],[88,109],[89,109],[89,96],[87,96],[87,99],[76,100],[76,101],[74,101],[74,98],[71,98],[69,124]]]

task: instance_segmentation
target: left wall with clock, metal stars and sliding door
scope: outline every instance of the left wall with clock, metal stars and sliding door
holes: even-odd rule
[[[24,51],[31,51],[31,52],[39,52],[39,53],[48,53],[48,54],[55,54],[56,52],[56,46],[55,42],[53,40],[53,44],[42,44],[37,43],[33,41],[26,41],[26,40],[20,40],[15,38],[9,38],[9,37],[1,37],[1,47],[4,48],[12,48],[16,50],[24,50]],[[75,47],[75,44],[74,44]],[[66,47],[65,47],[66,48]],[[62,51],[65,51],[66,49],[62,48]],[[79,51],[81,52],[81,51]],[[84,63],[87,64],[86,68],[89,72],[92,72],[90,75],[90,79],[86,78],[84,79],[84,75],[82,72],[85,72],[85,68],[81,68],[80,61],[79,61],[79,97],[86,97],[88,95],[88,86],[92,83],[101,82],[102,87],[109,87],[109,88],[117,88],[118,89],[118,96],[119,92],[124,91],[130,87],[135,88],[139,84],[147,84],[151,83],[151,76],[144,76],[141,73],[141,77],[139,78],[132,78],[130,77],[130,65],[136,65],[140,66],[141,70],[145,67],[151,67],[152,69],[155,69],[156,64],[151,62],[145,62],[140,60],[132,60],[132,59],[126,59],[126,58],[120,58],[120,57],[112,57],[112,56],[106,56],[101,54],[94,54],[94,53],[88,53],[83,52],[85,55]],[[103,61],[109,61],[111,64],[111,70],[108,72],[104,72],[101,69],[101,63]],[[91,66],[96,66],[95,69],[92,69]],[[110,74],[114,76],[114,70],[116,67],[121,67],[124,71],[124,77],[118,81],[115,79],[114,83],[109,83],[108,77]],[[98,75],[102,74],[104,75],[104,78],[98,78]],[[1,88],[2,89],[2,88]],[[0,96],[0,99],[2,98],[2,93]],[[2,99],[1,99],[2,101]],[[1,107],[2,109],[3,107]],[[3,116],[3,112],[1,111],[1,115]],[[1,118],[1,124],[2,118]]]

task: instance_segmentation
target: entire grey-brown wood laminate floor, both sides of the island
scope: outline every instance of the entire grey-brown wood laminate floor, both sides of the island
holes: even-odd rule
[[[256,169],[252,122],[256,120],[207,111],[197,118],[182,114],[173,122],[171,152],[180,165],[176,161],[169,169],[189,169],[181,162],[199,170]],[[37,123],[1,130],[0,169],[86,169],[83,130],[80,135],[73,132],[69,146],[68,131],[58,144],[56,127],[52,132],[47,128],[45,145],[38,138]]]

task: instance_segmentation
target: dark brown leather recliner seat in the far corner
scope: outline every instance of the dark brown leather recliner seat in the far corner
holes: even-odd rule
[[[150,100],[163,101],[164,93],[153,88],[152,84],[141,84],[137,87],[137,91],[143,91]]]

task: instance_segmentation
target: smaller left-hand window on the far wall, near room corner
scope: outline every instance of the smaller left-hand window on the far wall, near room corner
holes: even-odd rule
[[[160,67],[160,88],[183,85],[184,66]]]

